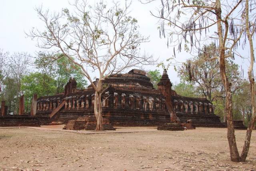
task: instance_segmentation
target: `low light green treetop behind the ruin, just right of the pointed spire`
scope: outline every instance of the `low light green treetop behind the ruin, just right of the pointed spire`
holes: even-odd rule
[[[177,85],[174,85],[174,90],[178,95],[186,97],[200,97],[192,84],[181,82]]]

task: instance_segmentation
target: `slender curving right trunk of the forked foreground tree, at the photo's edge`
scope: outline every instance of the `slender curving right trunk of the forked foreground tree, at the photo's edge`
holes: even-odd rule
[[[254,63],[254,49],[253,49],[253,43],[252,43],[252,35],[250,34],[250,29],[249,29],[249,2],[246,0],[245,3],[245,22],[246,22],[246,34],[247,38],[249,40],[250,44],[250,66],[248,68],[248,78],[250,80],[250,93],[251,93],[251,103],[252,103],[252,116],[250,119],[250,122],[248,124],[248,128],[246,131],[246,137],[244,140],[244,147],[241,153],[241,161],[245,161],[246,157],[248,155],[249,147],[250,147],[250,140],[251,140],[251,135],[252,135],[252,129],[254,127],[254,123],[256,120],[256,115],[255,115],[255,91],[254,91],[254,77],[252,75],[252,69],[253,69],[253,63]]]

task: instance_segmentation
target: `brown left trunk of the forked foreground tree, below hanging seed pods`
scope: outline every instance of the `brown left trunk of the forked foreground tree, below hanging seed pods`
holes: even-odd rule
[[[233,123],[233,109],[232,109],[232,95],[231,95],[231,84],[228,81],[228,78],[226,76],[226,68],[225,68],[225,44],[226,44],[226,38],[222,35],[222,25],[221,25],[221,4],[220,0],[216,0],[216,14],[217,14],[217,28],[218,28],[218,37],[219,37],[219,44],[220,44],[220,76],[222,79],[222,82],[224,84],[225,90],[226,90],[226,103],[225,103],[225,109],[226,109],[226,117],[227,117],[227,125],[228,125],[228,144],[230,149],[230,157],[232,161],[239,162],[240,156],[238,153],[237,145],[236,145],[236,137],[235,137],[235,131],[234,131],[234,123]],[[228,32],[228,22],[225,21],[225,33]]]

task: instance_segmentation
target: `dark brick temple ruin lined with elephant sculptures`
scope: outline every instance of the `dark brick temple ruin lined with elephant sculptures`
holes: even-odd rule
[[[146,72],[135,69],[112,75],[104,84],[108,88],[102,94],[103,117],[114,126],[158,126],[178,122],[187,127],[186,124],[191,123],[200,127],[224,127],[207,99],[180,96],[172,90],[166,70],[158,89],[154,89]],[[94,116],[94,93],[92,86],[76,89],[76,81],[70,79],[63,93],[39,97],[34,113],[42,124],[49,121],[68,123],[84,115]]]

